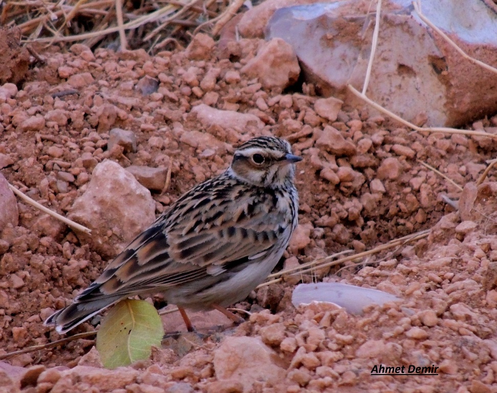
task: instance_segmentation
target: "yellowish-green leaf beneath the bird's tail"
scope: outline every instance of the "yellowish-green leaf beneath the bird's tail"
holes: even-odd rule
[[[160,346],[164,326],[157,310],[145,300],[121,300],[102,319],[97,351],[107,368],[147,359]]]

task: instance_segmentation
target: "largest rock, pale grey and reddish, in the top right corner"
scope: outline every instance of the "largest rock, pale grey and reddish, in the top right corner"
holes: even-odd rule
[[[321,94],[364,106],[347,84],[360,91],[364,83],[374,28],[374,15],[365,15],[368,4],[280,8],[269,20],[266,39],[290,43],[305,78]],[[497,15],[482,0],[421,0],[421,9],[466,53],[497,67]],[[382,4],[367,95],[406,120],[457,126],[497,111],[497,78],[464,60],[427,27],[411,1],[390,0]]]

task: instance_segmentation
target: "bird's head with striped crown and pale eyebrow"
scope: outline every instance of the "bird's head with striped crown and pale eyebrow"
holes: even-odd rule
[[[281,138],[257,137],[243,143],[235,151],[230,171],[239,180],[261,187],[291,185],[295,163],[290,144]]]

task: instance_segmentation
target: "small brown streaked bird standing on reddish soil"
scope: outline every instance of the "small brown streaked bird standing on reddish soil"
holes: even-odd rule
[[[44,323],[65,333],[121,299],[163,293],[185,312],[243,300],[274,269],[297,227],[299,196],[290,144],[258,137],[230,167],[193,187],[110,262],[73,303]]]

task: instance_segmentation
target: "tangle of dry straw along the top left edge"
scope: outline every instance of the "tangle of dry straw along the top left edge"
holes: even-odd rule
[[[81,42],[96,48],[153,50],[178,40],[188,43],[193,31],[220,29],[242,7],[242,0],[19,0],[4,2],[0,25],[16,26],[24,42]]]

